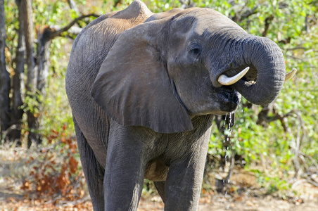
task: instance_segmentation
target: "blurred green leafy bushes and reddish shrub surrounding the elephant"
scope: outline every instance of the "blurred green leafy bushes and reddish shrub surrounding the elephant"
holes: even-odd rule
[[[32,28],[29,32],[20,32],[25,20],[21,18],[23,8],[19,6],[27,2],[32,3],[32,21],[29,23]],[[0,49],[1,58],[5,59],[5,65],[1,66],[0,90],[1,96],[8,98],[8,110],[0,116],[1,143],[39,148],[41,152],[27,154],[25,165],[29,171],[21,176],[23,190],[39,195],[53,193],[66,198],[84,196],[80,191],[82,173],[64,89],[70,49],[78,32],[91,20],[103,13],[122,10],[131,2],[0,1],[5,14],[5,17],[0,16],[0,19],[5,19],[0,22],[4,21],[6,32],[4,48]],[[287,71],[298,69],[297,75],[286,82],[274,103],[264,107],[253,106],[243,99],[235,113],[235,124],[230,128],[224,119],[232,115],[217,117],[212,128],[207,163],[209,173],[205,177],[203,192],[227,191],[228,187],[224,186],[227,182],[218,186],[212,180],[216,177],[220,181],[231,181],[234,164],[253,174],[265,193],[276,193],[283,198],[297,194],[293,191],[297,179],[303,178],[317,186],[313,175],[318,171],[318,1],[146,0],[144,3],[155,13],[174,7],[214,8],[250,34],[274,40],[284,53]],[[33,36],[31,42],[27,41],[27,33]],[[48,37],[43,44],[44,35]],[[45,83],[41,89],[30,89],[27,44],[32,49],[33,68],[36,69],[39,66],[37,62],[45,58],[46,69],[40,66],[36,69],[43,71]],[[39,49],[41,45],[44,52]],[[18,63],[19,59],[24,61]],[[4,75],[7,76],[2,77]],[[17,76],[20,104],[15,103]],[[4,89],[4,84],[8,84],[8,91]],[[18,119],[17,113],[20,113]],[[30,115],[37,119],[35,126],[30,122]],[[13,130],[17,130],[19,135],[10,135]],[[30,138],[30,133],[36,136]],[[37,146],[31,146],[32,141]],[[147,187],[151,188],[145,184]]]

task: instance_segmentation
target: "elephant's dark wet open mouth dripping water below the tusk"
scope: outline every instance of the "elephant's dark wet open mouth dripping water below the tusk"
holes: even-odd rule
[[[232,112],[236,110],[241,101],[241,94],[230,87],[221,87],[219,94],[217,94],[220,110],[223,112]]]

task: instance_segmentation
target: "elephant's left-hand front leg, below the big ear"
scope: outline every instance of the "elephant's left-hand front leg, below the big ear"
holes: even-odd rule
[[[105,210],[137,210],[144,184],[143,143],[125,132],[111,135],[103,182]]]

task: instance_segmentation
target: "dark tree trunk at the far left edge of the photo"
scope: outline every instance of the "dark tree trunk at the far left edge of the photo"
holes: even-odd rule
[[[6,15],[4,15],[4,0],[0,0],[0,131],[1,136],[10,127],[10,75],[6,71]],[[1,137],[1,139],[4,137]]]

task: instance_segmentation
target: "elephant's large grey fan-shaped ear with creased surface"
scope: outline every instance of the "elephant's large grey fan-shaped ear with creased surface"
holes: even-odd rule
[[[152,43],[164,22],[151,21],[120,34],[101,65],[91,96],[119,124],[160,133],[189,131],[189,114]]]

